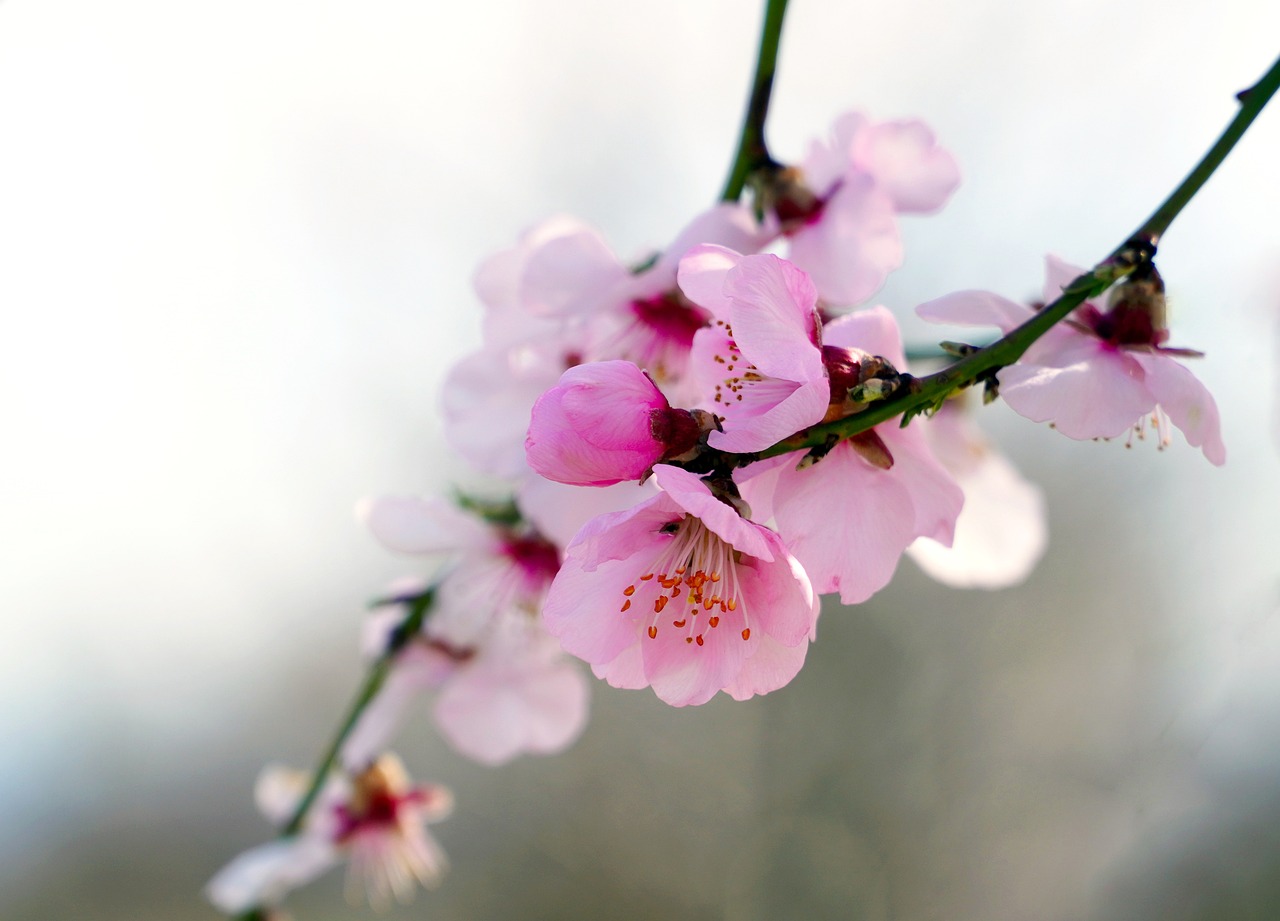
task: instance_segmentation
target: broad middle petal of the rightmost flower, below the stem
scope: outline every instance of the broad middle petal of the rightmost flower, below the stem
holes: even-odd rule
[[[1073,439],[1123,435],[1156,404],[1142,366],[1101,342],[1092,356],[1065,367],[1012,365],[998,376],[1000,395],[1014,412],[1052,422]]]

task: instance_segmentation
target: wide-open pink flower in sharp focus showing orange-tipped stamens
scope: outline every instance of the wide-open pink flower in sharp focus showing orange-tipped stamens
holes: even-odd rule
[[[543,619],[614,687],[673,706],[782,687],[804,663],[818,599],[776,533],[694,473],[659,464],[663,492],[589,522],[566,549]]]

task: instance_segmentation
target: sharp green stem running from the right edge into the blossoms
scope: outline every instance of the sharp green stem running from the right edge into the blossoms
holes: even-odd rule
[[[989,376],[1006,365],[1012,365],[1030,348],[1032,343],[1044,335],[1056,322],[1069,316],[1084,301],[1101,294],[1138,266],[1151,261],[1156,253],[1156,242],[1187,203],[1196,197],[1208,178],[1222,165],[1226,155],[1231,152],[1231,148],[1235,147],[1253,119],[1258,116],[1258,113],[1277,90],[1280,90],[1280,60],[1276,60],[1254,86],[1238,95],[1240,110],[1235,118],[1231,119],[1201,161],[1196,164],[1196,168],[1187,174],[1187,178],[1133,235],[1116,247],[1092,271],[1071,281],[1062,290],[1062,297],[1046,306],[1021,326],[937,374],[913,379],[897,394],[882,402],[868,404],[867,409],[860,413],[812,426],[756,454],[728,455],[726,458],[727,466],[741,467],[778,454],[818,448],[827,444],[832,436],[846,439],[858,435],[901,413],[920,412],[927,407],[938,405],[952,390]]]

